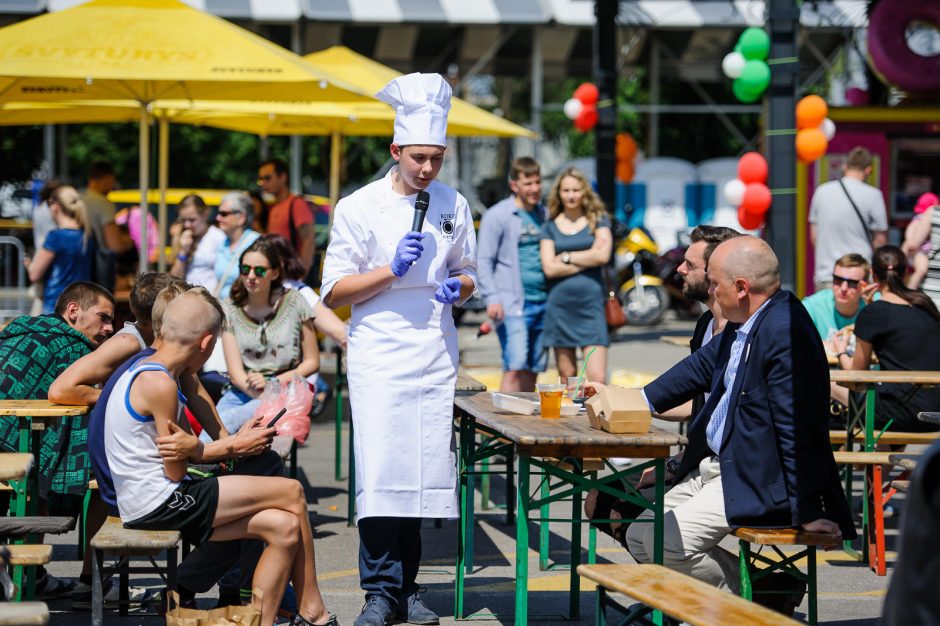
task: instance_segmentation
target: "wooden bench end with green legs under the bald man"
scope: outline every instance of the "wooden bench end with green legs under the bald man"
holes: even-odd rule
[[[738,557],[741,562],[741,596],[750,600],[753,596],[752,582],[773,572],[783,572],[806,583],[807,618],[810,624],[817,623],[816,593],[816,547],[841,542],[825,533],[810,533],[798,528],[738,528],[732,533],[738,539]],[[770,559],[751,550],[751,544],[770,546],[778,559]],[[796,554],[786,556],[777,546],[804,546]],[[806,573],[796,563],[806,558]],[[761,563],[764,567],[758,567]]]

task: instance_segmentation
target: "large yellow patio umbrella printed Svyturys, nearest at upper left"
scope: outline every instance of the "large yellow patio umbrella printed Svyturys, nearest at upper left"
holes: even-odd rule
[[[0,29],[0,102],[138,104],[141,198],[149,186],[148,103],[374,101],[371,95],[177,0],[92,0]],[[146,203],[142,208],[147,210]],[[142,238],[146,251],[146,229]],[[146,257],[142,252],[142,269]]]

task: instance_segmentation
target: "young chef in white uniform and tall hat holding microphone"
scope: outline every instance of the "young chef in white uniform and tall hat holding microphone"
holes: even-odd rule
[[[459,515],[451,307],[474,291],[476,235],[466,199],[434,180],[450,86],[439,74],[409,74],[376,96],[395,107],[398,165],[337,204],[321,292],[329,307],[352,305],[347,369],[366,592],[356,626],[383,626],[393,614],[437,624],[415,584],[421,518]],[[421,190],[427,217],[410,232]]]

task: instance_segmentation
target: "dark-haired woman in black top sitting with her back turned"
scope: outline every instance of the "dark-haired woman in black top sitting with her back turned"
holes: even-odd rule
[[[847,337],[833,341],[839,366],[867,370],[874,353],[882,370],[940,370],[940,311],[924,292],[904,284],[904,253],[897,246],[882,246],[872,256],[871,269],[881,299],[858,314],[854,355],[846,353]],[[875,403],[875,426],[884,428],[891,421],[894,430],[937,430],[938,426],[918,420],[917,413],[940,407],[940,388],[910,392],[910,385],[884,385]]]

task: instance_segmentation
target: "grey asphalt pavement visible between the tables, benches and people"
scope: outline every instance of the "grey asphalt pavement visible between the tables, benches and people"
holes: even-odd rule
[[[474,376],[488,385],[499,382],[499,344],[495,334],[476,338],[477,325],[482,321],[478,314],[468,315],[460,329],[461,364]],[[624,328],[612,342],[610,369],[614,382],[642,384],[665,371],[688,350],[667,343],[661,336],[685,337],[691,335],[690,322],[667,321],[653,328]],[[334,359],[325,356],[324,371],[329,373]],[[548,374],[547,376],[551,376]],[[348,426],[342,435],[342,478],[334,475],[335,419],[334,406],[317,418],[312,426],[307,444],[300,448],[298,463],[299,478],[307,493],[310,518],[313,523],[316,543],[317,573],[327,607],[335,612],[344,626],[352,626],[359,614],[363,596],[358,584],[357,553],[358,535],[354,526],[347,523],[348,484],[346,481]],[[348,420],[348,404],[345,417]],[[505,511],[497,508],[504,505],[505,484],[494,477],[492,494],[494,507],[483,510],[480,494],[476,504],[476,549],[475,567],[467,577],[466,612],[474,621],[512,624],[515,590],[515,528],[507,525]],[[903,504],[903,503],[900,503]],[[903,512],[903,506],[896,506]],[[561,508],[558,510],[562,514]],[[881,606],[887,583],[890,580],[894,550],[897,543],[898,517],[887,520],[888,576],[878,577],[867,566],[851,560],[841,551],[820,554],[819,622],[833,625],[863,626],[879,623]],[[538,532],[533,524],[529,545],[529,607],[530,623],[557,624],[568,615],[569,572],[563,569],[568,562],[570,528],[565,524],[550,527],[550,556],[558,567],[539,571]],[[585,546],[582,561],[586,559],[587,530],[582,530],[581,545]],[[81,562],[77,560],[77,535],[47,537],[54,544],[50,571],[57,576],[77,576]],[[439,527],[432,520],[424,523],[423,560],[419,584],[426,588],[427,604],[441,615],[442,624],[454,624],[454,560],[456,556],[457,524],[443,521]],[[728,547],[734,549],[734,544]],[[599,535],[597,541],[598,562],[631,562],[630,556],[613,539]],[[155,576],[132,576],[132,585],[158,589],[162,586]],[[211,608],[217,590],[200,596],[202,608]],[[627,599],[623,599],[627,601]],[[91,621],[89,612],[70,609],[67,600],[49,603],[53,626],[78,626]],[[796,617],[805,620],[806,601],[797,610]],[[120,617],[116,612],[107,612],[105,624],[114,626],[157,626],[164,620],[155,615],[132,613]],[[593,587],[582,583],[580,592],[580,615],[569,623],[594,623]]]

